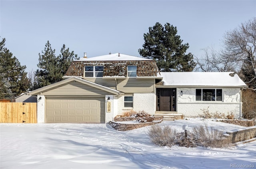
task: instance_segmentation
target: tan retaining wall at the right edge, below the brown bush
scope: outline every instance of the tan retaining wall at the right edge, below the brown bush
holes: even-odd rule
[[[236,143],[256,137],[256,127],[241,131],[226,131],[226,133],[230,135],[228,138],[232,141],[232,143]]]

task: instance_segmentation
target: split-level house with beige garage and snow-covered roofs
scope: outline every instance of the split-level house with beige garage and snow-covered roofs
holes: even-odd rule
[[[125,111],[196,116],[201,109],[241,116],[241,88],[233,72],[159,72],[154,60],[109,54],[73,61],[64,80],[37,95],[38,123],[106,123]]]

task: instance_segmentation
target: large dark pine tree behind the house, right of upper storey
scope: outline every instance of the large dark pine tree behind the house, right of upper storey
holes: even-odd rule
[[[149,32],[144,34],[145,43],[138,52],[144,58],[156,60],[158,68],[162,72],[191,72],[196,63],[191,53],[185,54],[189,48],[188,43],[177,35],[177,28],[166,23],[164,27],[156,23],[149,27]]]

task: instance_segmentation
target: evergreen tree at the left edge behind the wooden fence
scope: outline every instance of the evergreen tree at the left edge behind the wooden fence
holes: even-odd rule
[[[16,97],[28,89],[26,66],[4,47],[5,38],[0,42],[0,96]]]

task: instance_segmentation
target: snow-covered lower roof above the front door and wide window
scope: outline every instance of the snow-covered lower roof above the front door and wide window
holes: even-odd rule
[[[160,72],[160,74],[164,85],[247,87],[234,72]]]

